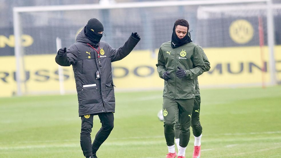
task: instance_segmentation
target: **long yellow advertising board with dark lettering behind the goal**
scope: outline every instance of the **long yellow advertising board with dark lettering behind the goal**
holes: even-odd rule
[[[231,47],[204,49],[211,69],[199,77],[200,86],[218,87],[232,85],[257,85],[270,81],[268,48],[264,47],[264,63],[260,47]],[[116,89],[162,89],[164,80],[160,79],[157,69],[157,53],[133,51],[121,61],[112,63],[113,82]],[[277,78],[281,80],[281,46],[275,47]],[[58,93],[58,65],[53,55],[27,55],[24,57],[25,93]],[[0,57],[0,97],[16,93],[15,57]],[[262,67],[265,65],[265,71]],[[63,67],[64,88],[75,92],[72,66]]]

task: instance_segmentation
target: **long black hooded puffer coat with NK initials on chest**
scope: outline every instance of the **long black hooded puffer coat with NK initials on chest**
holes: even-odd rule
[[[85,29],[85,28],[84,28]],[[111,62],[126,57],[137,45],[138,39],[130,36],[124,45],[118,49],[108,43],[100,41],[100,63],[98,62],[98,47],[91,48],[84,29],[77,35],[76,43],[67,49],[62,57],[55,57],[56,63],[61,66],[73,67],[79,103],[79,116],[103,112],[115,112],[114,84],[112,80]],[[100,79],[96,79],[97,70]]]

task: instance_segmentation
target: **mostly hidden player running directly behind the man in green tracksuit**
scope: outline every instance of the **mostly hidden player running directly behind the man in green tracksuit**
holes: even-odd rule
[[[200,48],[200,52],[203,57],[203,61],[205,64],[205,69],[204,72],[210,70],[210,62],[203,50],[202,47]],[[191,118],[191,127],[192,127],[192,132],[194,135],[194,150],[193,150],[193,158],[199,158],[201,155],[201,137],[202,137],[202,126],[199,121],[199,114],[200,114],[200,103],[201,103],[201,98],[200,98],[200,91],[199,91],[199,83],[198,83],[198,78],[195,79],[195,100],[194,100],[194,105],[193,105],[193,110],[192,110],[192,118]],[[178,123],[178,113],[176,115],[176,123],[174,125],[174,130],[175,130],[175,141],[176,144],[179,147],[179,141],[180,141],[180,125]]]

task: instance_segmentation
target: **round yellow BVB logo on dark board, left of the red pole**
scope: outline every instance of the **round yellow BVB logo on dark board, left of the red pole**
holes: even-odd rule
[[[254,28],[247,20],[236,20],[230,24],[229,35],[238,44],[246,44],[254,37]]]

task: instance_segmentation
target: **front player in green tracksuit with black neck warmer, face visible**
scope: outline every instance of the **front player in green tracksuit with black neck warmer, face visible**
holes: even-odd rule
[[[163,43],[158,53],[157,71],[164,79],[163,116],[164,134],[169,153],[167,158],[177,156],[174,142],[174,124],[179,111],[180,152],[185,158],[190,138],[191,115],[195,99],[195,79],[204,71],[205,65],[198,45],[188,36],[189,24],[178,19],[173,28],[172,40]]]

